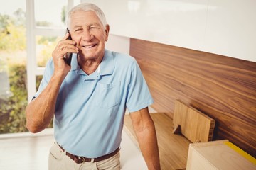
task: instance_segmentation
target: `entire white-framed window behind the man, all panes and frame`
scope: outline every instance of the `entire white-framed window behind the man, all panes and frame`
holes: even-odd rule
[[[0,134],[27,131],[26,105],[65,34],[66,9],[79,3],[9,0],[0,6]]]

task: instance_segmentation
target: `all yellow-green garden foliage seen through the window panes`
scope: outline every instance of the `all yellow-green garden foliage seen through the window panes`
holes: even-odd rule
[[[63,19],[63,18],[62,18]],[[38,25],[49,25],[39,21]],[[38,36],[37,44],[41,45],[38,54],[38,66],[44,67],[51,56],[51,52],[58,42],[58,38],[45,38]],[[3,64],[4,63],[4,64]],[[9,75],[11,96],[0,96],[0,134],[13,132],[26,132],[27,106],[27,78],[26,78],[26,24],[25,12],[18,9],[14,16],[1,15],[0,13],[0,73]],[[1,78],[1,77],[0,77]],[[38,88],[42,77],[36,77]],[[1,88],[1,87],[0,87]],[[1,90],[1,89],[0,89]],[[49,127],[52,127],[50,123]]]

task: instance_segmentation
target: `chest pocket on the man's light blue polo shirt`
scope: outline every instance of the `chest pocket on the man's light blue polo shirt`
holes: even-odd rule
[[[96,87],[97,101],[96,106],[102,108],[112,108],[119,104],[120,101],[120,83],[118,84],[97,84]]]

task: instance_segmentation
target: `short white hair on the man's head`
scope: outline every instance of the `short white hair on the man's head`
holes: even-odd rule
[[[93,11],[93,12],[95,12],[97,17],[100,18],[100,22],[104,26],[104,29],[106,28],[107,21],[106,21],[106,18],[105,18],[105,14],[103,13],[103,11],[98,6],[96,6],[95,4],[90,4],[90,3],[82,3],[82,4],[79,4],[79,5],[74,6],[73,8],[71,8],[71,10],[68,12],[68,18],[67,18],[68,28],[70,27],[70,17],[76,11]]]

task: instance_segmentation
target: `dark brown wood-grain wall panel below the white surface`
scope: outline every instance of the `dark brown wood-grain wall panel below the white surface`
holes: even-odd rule
[[[173,118],[176,99],[216,120],[228,139],[256,157],[256,62],[131,39],[158,112]]]

